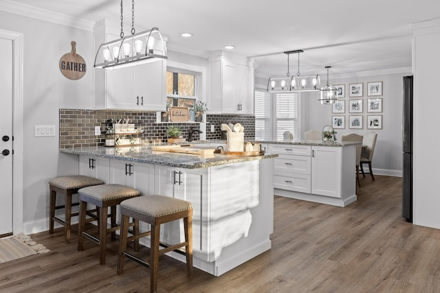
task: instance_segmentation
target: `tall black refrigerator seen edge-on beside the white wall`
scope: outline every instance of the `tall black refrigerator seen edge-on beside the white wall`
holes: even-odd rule
[[[403,186],[401,215],[412,223],[412,76],[404,76],[404,104],[402,121]]]

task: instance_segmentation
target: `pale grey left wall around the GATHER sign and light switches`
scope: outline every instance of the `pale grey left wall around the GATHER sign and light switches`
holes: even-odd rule
[[[78,174],[78,160],[58,152],[58,109],[91,108],[92,33],[0,11],[0,28],[23,34],[23,222],[49,216],[50,178]],[[87,62],[80,80],[68,80],[58,68],[64,54],[76,51]],[[53,124],[55,137],[34,137],[34,125]],[[31,232],[31,231],[25,231]]]

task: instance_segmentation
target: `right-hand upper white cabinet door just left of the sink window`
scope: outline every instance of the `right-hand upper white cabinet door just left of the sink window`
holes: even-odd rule
[[[134,95],[139,96],[136,106],[143,110],[166,110],[165,60],[134,67],[134,80]]]

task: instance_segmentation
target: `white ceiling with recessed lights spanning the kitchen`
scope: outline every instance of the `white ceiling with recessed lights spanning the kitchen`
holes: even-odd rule
[[[120,0],[5,0],[91,22],[120,21]],[[142,0],[135,26],[159,27],[168,49],[207,57],[234,45],[254,58],[256,75],[283,76],[287,55],[303,49],[301,75],[349,74],[411,67],[412,23],[440,18],[439,0]],[[124,28],[131,28],[131,1],[124,1]],[[194,34],[182,38],[182,32]],[[290,72],[298,55],[290,56]]]

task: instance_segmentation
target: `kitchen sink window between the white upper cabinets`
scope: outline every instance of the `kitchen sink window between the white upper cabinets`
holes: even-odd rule
[[[199,73],[168,68],[166,71],[166,97],[170,106],[191,108],[198,99]]]

